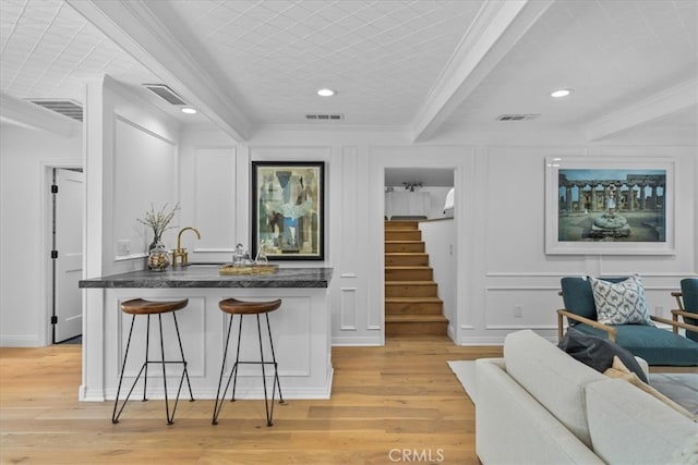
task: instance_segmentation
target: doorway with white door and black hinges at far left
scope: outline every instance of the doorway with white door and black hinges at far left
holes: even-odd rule
[[[82,343],[84,173],[80,167],[47,168],[47,306],[51,344]]]

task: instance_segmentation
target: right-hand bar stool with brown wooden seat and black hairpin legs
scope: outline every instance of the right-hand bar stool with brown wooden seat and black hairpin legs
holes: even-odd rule
[[[260,365],[262,367],[262,382],[264,384],[264,406],[266,408],[266,426],[272,426],[274,417],[274,400],[276,397],[276,389],[279,390],[279,403],[284,403],[284,396],[281,395],[281,384],[279,383],[278,365],[276,363],[276,354],[274,353],[274,341],[272,340],[272,327],[269,326],[269,311],[274,311],[281,306],[281,299],[270,302],[243,302],[236,298],[227,298],[218,303],[220,309],[230,315],[230,322],[228,323],[228,334],[226,335],[226,347],[224,350],[222,366],[220,368],[220,379],[218,380],[218,391],[216,393],[216,403],[214,405],[213,425],[218,425],[218,415],[222,408],[224,400],[230,388],[230,381],[232,380],[232,394],[230,402],[236,400],[236,383],[238,381],[238,368],[240,365]],[[266,330],[269,338],[269,347],[272,348],[272,360],[264,359],[264,348],[262,343],[262,325],[260,322],[260,315],[264,314],[266,317]],[[228,376],[226,388],[222,393],[220,389],[222,387],[224,374],[226,370],[226,358],[228,356],[228,344],[230,343],[230,333],[232,330],[232,321],[236,315],[240,315],[238,325],[238,347],[236,350],[236,363],[232,365],[232,370]],[[245,315],[255,315],[257,318],[257,336],[260,340],[260,362],[249,362],[240,359],[240,339],[242,336],[242,317]],[[274,365],[274,387],[272,389],[272,402],[268,401],[267,387],[266,387],[266,365]]]

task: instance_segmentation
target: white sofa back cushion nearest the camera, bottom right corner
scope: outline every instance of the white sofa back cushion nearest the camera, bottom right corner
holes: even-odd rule
[[[696,424],[621,379],[586,387],[593,451],[605,463],[664,464],[696,435]]]

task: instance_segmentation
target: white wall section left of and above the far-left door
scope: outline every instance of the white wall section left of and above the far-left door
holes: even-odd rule
[[[83,164],[82,137],[2,124],[0,154],[0,346],[47,345],[49,171]]]

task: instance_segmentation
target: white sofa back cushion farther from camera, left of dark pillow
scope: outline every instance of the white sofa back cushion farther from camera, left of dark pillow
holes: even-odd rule
[[[590,446],[585,386],[606,378],[531,330],[505,338],[504,359],[509,376]]]

